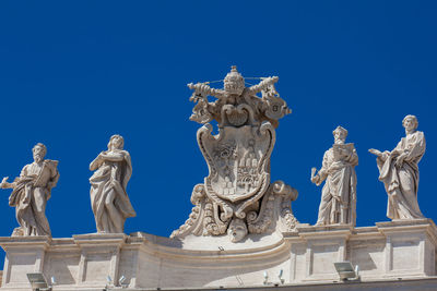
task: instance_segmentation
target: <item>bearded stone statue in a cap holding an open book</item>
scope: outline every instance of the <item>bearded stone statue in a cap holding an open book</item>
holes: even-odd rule
[[[345,144],[347,131],[338,126],[333,132],[334,144],[323,155],[322,167],[317,174],[311,169],[311,182],[320,185],[321,192],[317,226],[352,225],[356,220],[356,174],[358,156],[354,144]]]

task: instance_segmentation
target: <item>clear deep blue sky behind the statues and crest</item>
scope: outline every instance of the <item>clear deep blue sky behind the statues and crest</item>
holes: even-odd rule
[[[37,142],[59,160],[47,204],[56,238],[95,231],[90,162],[125,137],[138,216],[126,232],[167,237],[187,219],[208,168],[188,120],[190,82],[277,75],[293,113],[281,120],[272,179],[299,191],[300,222],[315,223],[321,187],[309,181],[336,125],[350,132],[357,226],[387,221],[387,195],[367,149],[391,149],[415,114],[427,151],[418,201],[437,218],[437,3],[435,1],[1,1],[0,175],[13,179]],[[0,235],[16,227],[0,194]]]

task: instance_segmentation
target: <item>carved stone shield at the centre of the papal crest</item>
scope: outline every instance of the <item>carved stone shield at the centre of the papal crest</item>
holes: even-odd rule
[[[212,126],[206,124],[198,132],[210,170],[204,183],[206,195],[244,217],[245,208],[261,198],[270,184],[274,129],[264,122],[261,126],[224,126],[215,136],[211,131]]]

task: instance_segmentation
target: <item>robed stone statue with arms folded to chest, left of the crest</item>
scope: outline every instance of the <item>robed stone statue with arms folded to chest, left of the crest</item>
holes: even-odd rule
[[[90,170],[95,171],[90,178],[91,206],[101,233],[122,233],[126,218],[137,215],[126,192],[132,163],[123,144],[120,135],[113,135],[108,150],[90,163]]]

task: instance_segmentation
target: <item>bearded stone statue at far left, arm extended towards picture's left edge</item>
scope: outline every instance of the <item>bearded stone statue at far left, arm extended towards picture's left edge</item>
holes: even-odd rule
[[[9,205],[15,207],[20,225],[12,237],[51,235],[45,210],[59,179],[58,161],[44,159],[47,153],[44,144],[36,144],[32,151],[34,162],[24,166],[12,183],[5,177],[0,184],[1,189],[12,189]]]

